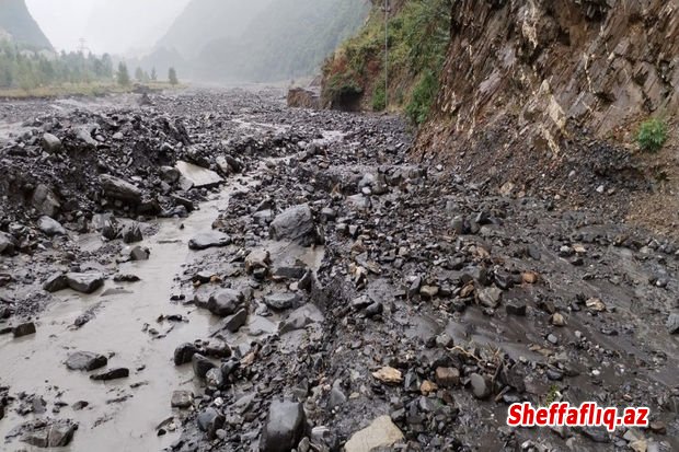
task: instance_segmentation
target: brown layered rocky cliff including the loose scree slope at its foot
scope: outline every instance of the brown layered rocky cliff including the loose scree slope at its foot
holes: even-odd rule
[[[672,148],[678,11],[679,0],[456,1],[418,152],[505,194],[653,192],[641,173],[657,158],[640,161],[634,140],[661,117]]]

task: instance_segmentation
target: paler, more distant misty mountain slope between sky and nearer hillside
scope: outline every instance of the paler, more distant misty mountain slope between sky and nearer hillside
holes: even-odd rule
[[[192,0],[156,47],[193,59],[214,39],[240,36],[273,1]]]

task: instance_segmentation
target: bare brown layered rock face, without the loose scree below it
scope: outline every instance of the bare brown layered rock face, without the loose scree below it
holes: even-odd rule
[[[460,0],[450,33],[423,152],[503,123],[502,144],[554,157],[574,127],[629,142],[640,119],[679,106],[679,0]]]

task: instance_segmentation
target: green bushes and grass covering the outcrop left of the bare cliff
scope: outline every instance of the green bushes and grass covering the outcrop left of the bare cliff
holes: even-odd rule
[[[373,109],[389,100],[422,124],[438,91],[450,40],[453,0],[405,0],[392,11],[388,28],[389,92],[384,92],[384,12],[377,2],[366,25],[347,39],[323,66],[323,98],[333,104],[347,88],[371,95]],[[380,92],[381,91],[381,92]],[[389,94],[389,95],[387,95]]]

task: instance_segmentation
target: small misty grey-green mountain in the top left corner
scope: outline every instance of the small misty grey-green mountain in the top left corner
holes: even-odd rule
[[[24,0],[0,0],[0,30],[9,33],[16,43],[35,48],[51,49]]]

